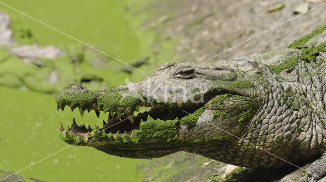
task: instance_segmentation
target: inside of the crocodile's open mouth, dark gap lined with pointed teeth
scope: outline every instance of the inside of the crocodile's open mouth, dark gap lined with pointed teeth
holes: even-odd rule
[[[85,124],[77,125],[75,119],[73,119],[71,127],[65,129],[60,124],[60,129],[63,132],[63,134],[74,134],[76,137],[81,136],[86,140],[89,134],[94,134],[93,132],[94,129],[98,129],[97,130],[98,133],[101,132],[101,133],[105,133],[106,135],[111,134],[114,136],[114,138],[116,138],[116,134],[123,134],[123,135],[127,134],[128,136],[132,136],[135,131],[141,130],[141,124],[146,123],[149,118],[151,118],[151,120],[159,120],[160,122],[165,122],[168,120],[175,120],[175,119],[181,121],[183,118],[189,117],[188,113],[194,114],[201,107],[206,107],[207,105],[210,105],[211,101],[214,101],[215,98],[220,98],[220,102],[221,102],[220,103],[221,107],[219,107],[220,111],[229,110],[230,108],[227,108],[227,106],[225,106],[223,103],[224,102],[223,99],[225,99],[226,97],[232,98],[238,96],[220,93],[218,95],[214,95],[210,97],[210,99],[207,99],[205,103],[201,103],[200,105],[194,105],[193,107],[179,107],[177,109],[160,107],[159,105],[151,105],[151,103],[141,103],[139,107],[143,107],[143,111],[138,112],[138,110],[141,109],[137,108],[134,110],[135,114],[133,115],[132,114],[127,115],[125,113],[119,113],[119,112],[108,112],[108,119],[106,121],[103,120],[102,121],[103,124],[100,124],[101,126],[99,126],[99,124],[96,124],[95,127],[92,128],[90,125],[88,125],[88,127],[86,127]],[[230,100],[233,102],[239,101],[239,100],[232,100],[232,99]],[[247,104],[247,102],[245,102],[245,104]],[[67,106],[71,107],[69,105]],[[58,110],[59,109],[64,110],[64,108],[65,108],[64,105],[61,106],[58,105],[57,107]],[[71,107],[71,109],[73,110],[74,108]],[[210,109],[214,109],[214,108],[210,108]],[[92,104],[92,108],[87,110],[89,112],[91,110],[94,110],[96,116],[99,117],[100,111],[103,111],[103,108],[98,107],[96,104],[95,105]],[[191,117],[195,117],[193,116],[193,114],[190,114]],[[83,117],[84,112],[80,112],[80,115]],[[197,120],[197,118],[193,118],[193,119]]]

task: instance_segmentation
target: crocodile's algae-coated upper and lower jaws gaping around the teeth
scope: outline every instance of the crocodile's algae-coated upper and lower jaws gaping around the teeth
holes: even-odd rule
[[[119,88],[90,91],[81,84],[69,84],[55,96],[58,110],[64,110],[65,106],[70,107],[72,111],[78,108],[82,117],[86,110],[94,110],[97,117],[102,111],[108,113],[108,118],[103,120],[103,124],[96,124],[94,128],[85,124],[77,125],[75,119],[67,129],[60,124],[60,137],[69,144],[85,140],[77,145],[88,146],[105,145],[117,148],[146,143],[166,146],[171,144],[171,141],[179,141],[181,126],[187,129],[195,127],[198,117],[206,109],[226,113],[232,110],[228,106],[241,107],[248,102],[245,101],[246,97],[225,93],[221,89],[217,93],[211,91],[205,94],[205,100],[197,103],[164,102],[144,95],[141,98],[135,97],[137,95],[123,96],[125,92],[127,91]],[[242,99],[243,101],[240,101]],[[215,113],[215,116],[219,117],[219,113]],[[215,117],[214,113],[212,114]]]

